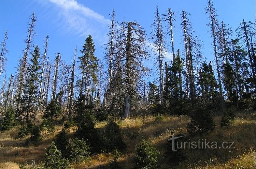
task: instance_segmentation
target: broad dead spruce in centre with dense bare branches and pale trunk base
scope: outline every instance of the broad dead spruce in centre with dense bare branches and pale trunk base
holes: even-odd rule
[[[123,22],[119,30],[118,54],[124,66],[124,115],[131,115],[131,106],[143,86],[142,76],[148,71],[143,66],[147,59],[145,30],[138,22]]]

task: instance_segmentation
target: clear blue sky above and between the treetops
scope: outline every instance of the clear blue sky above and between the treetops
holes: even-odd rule
[[[183,50],[181,43],[181,20],[179,12],[190,13],[190,21],[194,28],[195,35],[203,41],[204,57],[208,61],[214,59],[209,33],[209,27],[205,26],[209,22],[208,15],[204,14],[207,7],[207,0],[1,0],[0,2],[0,41],[4,38],[6,29],[8,30],[8,40],[6,47],[9,53],[6,58],[6,76],[15,74],[19,57],[25,49],[24,40],[27,38],[27,27],[30,15],[35,11],[37,22],[34,37],[34,45],[39,45],[43,54],[44,37],[49,35],[48,56],[53,61],[56,53],[60,53],[62,60],[71,63],[75,45],[77,50],[82,49],[85,38],[91,34],[95,42],[96,56],[101,59],[104,56],[103,44],[106,42],[108,32],[109,14],[114,9],[116,20],[134,21],[137,20],[151,37],[151,24],[153,22],[156,5],[159,13],[163,14],[168,8],[174,11],[176,21],[174,25],[174,49]],[[229,24],[233,32],[237,29],[243,19],[255,22],[255,0],[214,0],[218,11],[218,20]],[[167,36],[170,44],[170,38]],[[152,41],[152,40],[150,40]],[[171,46],[168,46],[171,49]],[[169,50],[171,51],[171,50]],[[77,53],[81,55],[80,52]],[[171,58],[167,58],[170,60]],[[103,61],[103,60],[102,60]],[[151,68],[152,64],[148,63]],[[1,75],[3,79],[4,75]],[[154,78],[154,77],[153,77]]]

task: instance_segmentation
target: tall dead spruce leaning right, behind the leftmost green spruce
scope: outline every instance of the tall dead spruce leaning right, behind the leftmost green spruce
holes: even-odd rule
[[[25,81],[26,81],[26,76],[27,76],[27,61],[28,61],[28,54],[30,51],[30,47],[33,45],[33,37],[36,35],[35,34],[35,21],[37,19],[37,17],[35,17],[35,13],[33,12],[33,14],[30,17],[31,22],[29,23],[29,27],[28,27],[28,38],[25,40],[25,43],[27,44],[26,49],[24,50],[24,54],[23,57],[19,60],[19,65],[18,65],[18,88],[17,88],[17,109],[20,108],[20,99],[22,97],[22,91],[24,90],[23,87],[25,85]]]

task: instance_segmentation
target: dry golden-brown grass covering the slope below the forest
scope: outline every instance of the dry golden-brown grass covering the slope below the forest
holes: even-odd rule
[[[215,116],[217,124],[215,130],[208,135],[188,136],[186,126],[189,117],[183,116],[134,116],[124,120],[117,120],[126,150],[120,156],[123,168],[133,168],[133,156],[136,145],[142,138],[149,138],[159,150],[159,164],[161,168],[172,168],[170,164],[170,149],[167,139],[170,131],[182,132],[191,141],[207,139],[208,142],[235,142],[234,149],[183,149],[186,158],[175,168],[198,168],[198,169],[246,169],[255,168],[255,110],[236,112],[236,118],[229,127],[221,127],[221,116]],[[98,122],[96,128],[104,131],[106,121]],[[20,164],[26,164],[32,168],[40,164],[45,157],[45,149],[55,138],[62,126],[55,128],[54,134],[43,132],[43,141],[37,147],[24,147],[26,138],[18,138],[18,127],[5,132],[0,132],[0,168],[19,169]],[[76,128],[69,129],[70,137],[73,137]],[[72,165],[75,169],[104,168],[113,158],[111,153],[99,153],[91,156],[91,160],[81,164]]]

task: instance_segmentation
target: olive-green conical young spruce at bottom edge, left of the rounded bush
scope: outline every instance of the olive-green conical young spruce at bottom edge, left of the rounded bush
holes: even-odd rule
[[[46,149],[46,157],[44,160],[44,166],[46,169],[66,169],[68,168],[68,161],[62,158],[61,152],[57,149],[57,146],[52,142]]]

